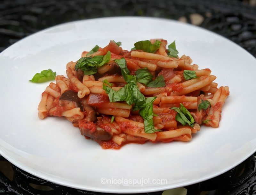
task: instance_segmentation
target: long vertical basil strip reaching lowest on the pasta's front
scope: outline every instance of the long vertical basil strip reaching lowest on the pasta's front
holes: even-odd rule
[[[157,131],[161,131],[160,129],[155,129],[153,123],[153,102],[156,97],[146,98],[144,103],[144,107],[140,109],[140,116],[144,119],[144,131],[145,133],[151,134]]]

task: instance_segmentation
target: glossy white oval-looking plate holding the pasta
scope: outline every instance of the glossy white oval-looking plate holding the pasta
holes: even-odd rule
[[[131,49],[136,41],[152,38],[176,40],[180,56],[191,56],[200,69],[212,70],[219,86],[229,86],[219,128],[202,127],[190,142],[104,150],[65,119],[37,117],[41,93],[49,83],[30,83],[36,72],[51,68],[66,75],[67,62],[96,44],[104,47],[115,40]],[[46,29],[0,54],[0,153],[33,175],[90,191],[160,191],[215,177],[256,150],[255,62],[244,49],[217,34],[166,19],[100,18]],[[128,179],[139,184],[126,184]],[[124,184],[114,184],[120,182]]]

